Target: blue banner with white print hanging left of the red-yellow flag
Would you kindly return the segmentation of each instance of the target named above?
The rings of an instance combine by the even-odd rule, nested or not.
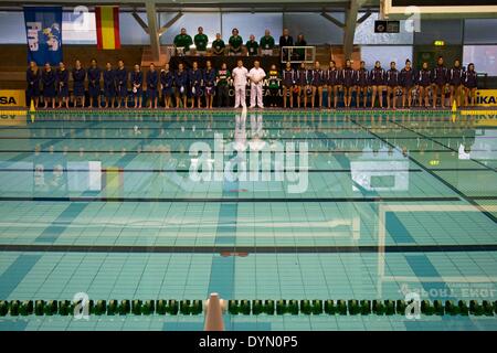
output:
[[[56,65],[62,61],[62,7],[24,7],[28,62]]]

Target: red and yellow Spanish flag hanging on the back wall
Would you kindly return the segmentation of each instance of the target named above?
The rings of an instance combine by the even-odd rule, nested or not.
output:
[[[97,47],[103,50],[120,49],[119,8],[95,7],[97,28]]]

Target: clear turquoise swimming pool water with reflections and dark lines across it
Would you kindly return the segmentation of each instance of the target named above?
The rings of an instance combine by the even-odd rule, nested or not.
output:
[[[15,115],[0,122],[0,300],[494,302],[496,168],[487,116]],[[226,330],[497,329],[495,315],[224,320]],[[0,330],[202,329],[203,315],[0,318]]]

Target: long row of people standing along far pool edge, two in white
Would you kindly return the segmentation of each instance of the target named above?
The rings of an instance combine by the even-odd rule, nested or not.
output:
[[[71,71],[62,62],[56,69],[49,63],[40,69],[31,62],[27,71],[27,94],[36,108],[68,108],[71,75],[72,105],[89,108],[157,109],[161,98],[165,108],[175,106],[212,109],[214,96],[218,98],[218,107],[228,107],[230,87],[234,88],[235,107],[245,107],[247,85],[251,108],[263,108],[264,100],[271,107],[281,106],[281,93],[284,108],[295,107],[295,100],[298,108],[309,105],[310,108],[338,108],[339,99],[342,103],[340,106],[350,108],[352,96],[356,98],[357,108],[374,108],[377,103],[380,108],[388,109],[436,108],[438,103],[445,108],[454,101],[459,107],[475,104],[477,73],[473,63],[464,69],[456,60],[453,67],[447,68],[440,56],[436,66],[432,68],[424,62],[421,69],[415,69],[409,60],[402,69],[399,71],[395,66],[395,62],[391,62],[390,68],[384,69],[377,61],[374,67],[368,71],[366,63],[361,61],[360,68],[355,69],[352,62],[347,60],[341,68],[337,67],[335,61],[331,61],[326,69],[320,67],[319,62],[315,62],[310,68],[305,63],[294,68],[287,62],[282,71],[272,65],[266,73],[257,60],[250,71],[243,66],[242,60],[239,60],[236,67],[231,71],[224,62],[220,67],[213,67],[208,60],[202,68],[198,62],[193,62],[191,68],[180,62],[177,69],[171,69],[169,64],[161,69],[150,64],[146,73],[141,71],[140,65],[135,65],[128,73],[123,61],[118,61],[117,68],[106,63],[105,68],[101,69],[96,60],[92,60],[89,67],[85,69],[81,61],[76,60]],[[263,93],[264,87],[267,88],[266,94]],[[324,90],[327,92],[326,106]]]

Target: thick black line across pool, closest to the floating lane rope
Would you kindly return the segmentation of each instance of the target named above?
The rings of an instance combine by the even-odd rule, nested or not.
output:
[[[45,245],[4,244],[1,252],[24,253],[184,253],[184,254],[378,254],[378,253],[482,253],[497,252],[497,244],[440,244],[440,245],[355,245],[355,246],[148,246],[148,245]]]

